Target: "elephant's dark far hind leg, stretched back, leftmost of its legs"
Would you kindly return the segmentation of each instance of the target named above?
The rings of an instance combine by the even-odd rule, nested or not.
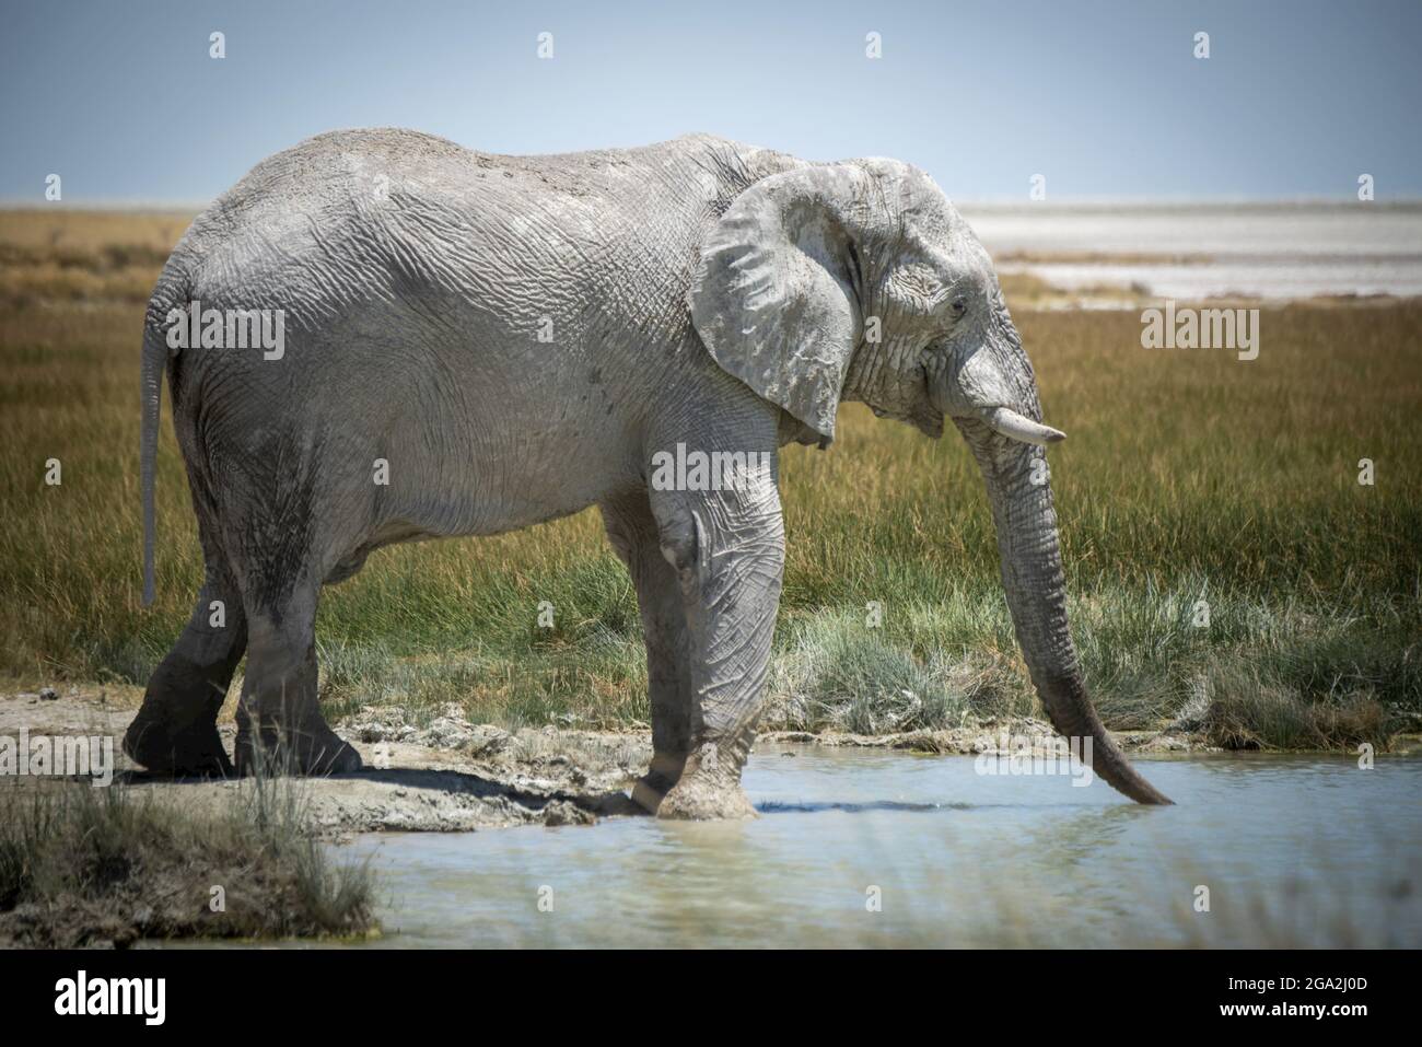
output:
[[[205,542],[208,578],[178,643],[158,666],[124,751],[154,774],[229,775],[218,711],[247,646],[242,597],[219,551]]]

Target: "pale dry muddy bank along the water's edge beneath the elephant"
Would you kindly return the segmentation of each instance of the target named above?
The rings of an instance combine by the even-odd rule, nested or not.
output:
[[[152,792],[156,802],[173,802],[185,809],[202,805],[216,809],[240,790],[236,781],[155,780],[132,765],[122,755],[119,741],[137,707],[134,691],[70,689],[51,697],[3,694],[0,735],[17,737],[24,728],[31,737],[111,737],[117,782]],[[600,818],[641,814],[627,798],[627,790],[651,758],[647,730],[505,730],[469,723],[458,706],[448,706],[432,720],[411,723],[405,711],[392,704],[367,706],[334,728],[360,751],[365,768],[353,775],[300,780],[304,822],[316,835],[592,825]],[[230,753],[235,726],[222,723],[219,731]],[[882,735],[768,731],[757,741],[757,753],[835,745],[978,754],[1003,751],[1004,733],[1027,735],[1034,750],[1057,744],[1045,721],[1012,718]],[[1219,751],[1185,726],[1113,737],[1130,753]],[[1415,738],[1399,741],[1404,751],[1416,747]],[[0,788],[6,784],[0,780]]]

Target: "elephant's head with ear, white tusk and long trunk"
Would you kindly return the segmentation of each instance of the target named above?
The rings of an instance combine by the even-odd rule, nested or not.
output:
[[[799,166],[744,189],[708,232],[691,319],[711,356],[826,444],[840,400],[930,437],[944,417],[987,481],[1003,583],[1052,724],[1092,740],[1092,767],[1169,802],[1121,754],[1082,684],[1066,623],[1042,424],[993,263],[933,181],[884,159]]]

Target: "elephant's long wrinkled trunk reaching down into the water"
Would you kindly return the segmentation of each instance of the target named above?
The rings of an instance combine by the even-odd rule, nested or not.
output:
[[[1066,625],[1066,583],[1052,491],[1045,472],[1034,469],[1042,452],[1005,444],[978,422],[960,422],[960,428],[987,481],[1007,606],[1052,727],[1068,740],[1081,740],[1084,758],[1085,740],[1091,738],[1092,771],[1119,792],[1142,804],[1169,804],[1116,748],[1086,697]]]

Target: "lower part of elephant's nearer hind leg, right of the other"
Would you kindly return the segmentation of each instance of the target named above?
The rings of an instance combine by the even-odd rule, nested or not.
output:
[[[360,754],[336,737],[316,696],[316,603],[299,582],[280,599],[247,593],[247,671],[237,706],[237,771],[346,774]],[[270,593],[259,586],[259,593]]]

